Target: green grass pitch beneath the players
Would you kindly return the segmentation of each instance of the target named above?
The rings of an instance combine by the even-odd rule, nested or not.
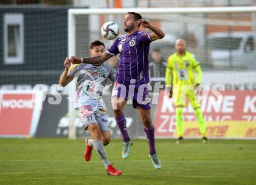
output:
[[[162,169],[153,168],[145,139],[122,159],[122,141],[106,146],[121,176],[106,175],[95,151],[84,161],[83,140],[0,139],[0,184],[256,184],[255,140],[156,140]]]

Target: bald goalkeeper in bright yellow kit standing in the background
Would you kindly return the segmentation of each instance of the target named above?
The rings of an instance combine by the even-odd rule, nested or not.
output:
[[[169,56],[166,68],[166,87],[170,88],[169,97],[174,97],[176,112],[176,128],[180,143],[183,139],[183,108],[186,106],[186,97],[194,108],[202,136],[202,142],[207,143],[205,136],[204,115],[200,108],[199,85],[201,84],[202,71],[200,64],[195,60],[194,55],[186,51],[186,42],[177,39],[175,43],[176,53]],[[195,78],[196,73],[196,78]]]

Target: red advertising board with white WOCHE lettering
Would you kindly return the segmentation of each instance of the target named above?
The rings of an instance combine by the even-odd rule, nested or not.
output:
[[[33,135],[34,126],[37,126],[38,113],[35,113],[35,104],[38,100],[40,100],[38,96],[34,96],[31,92],[1,92],[0,136],[29,137]]]

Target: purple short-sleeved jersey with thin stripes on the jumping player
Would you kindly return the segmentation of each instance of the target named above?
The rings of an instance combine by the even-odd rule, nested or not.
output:
[[[141,85],[150,81],[148,75],[150,42],[152,42],[150,33],[139,30],[115,40],[107,52],[111,55],[119,53],[117,83],[129,85],[131,82],[131,84]]]

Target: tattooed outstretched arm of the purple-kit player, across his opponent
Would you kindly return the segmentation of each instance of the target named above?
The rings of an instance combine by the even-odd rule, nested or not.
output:
[[[112,56],[113,55],[107,52],[104,52],[102,53],[102,55],[88,57],[88,58],[80,58],[80,57],[72,56],[70,57],[70,60],[73,64],[80,64],[80,63],[99,64],[99,63],[104,63],[104,61],[108,60]]]

